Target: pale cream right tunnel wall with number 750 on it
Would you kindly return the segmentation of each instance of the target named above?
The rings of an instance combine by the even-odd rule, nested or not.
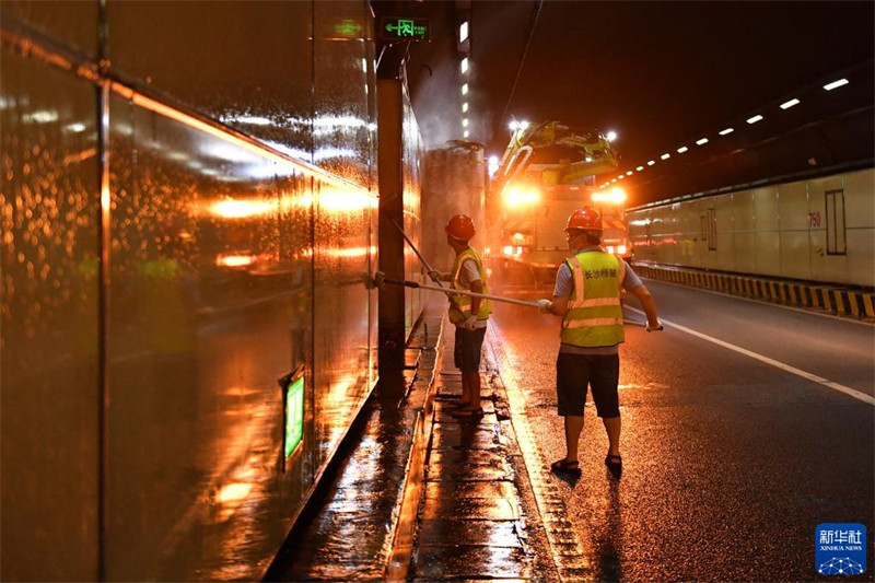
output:
[[[637,261],[873,287],[873,193],[875,171],[870,168],[650,205],[627,211],[626,218]],[[835,219],[839,212],[830,220],[829,196],[842,200],[840,220]],[[684,256],[684,244],[666,235],[668,215],[701,221],[709,209],[716,218],[716,249]],[[707,241],[695,245],[707,249]]]

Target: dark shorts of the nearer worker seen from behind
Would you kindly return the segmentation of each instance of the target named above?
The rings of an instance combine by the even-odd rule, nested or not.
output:
[[[620,417],[617,384],[620,380],[619,354],[570,354],[560,352],[556,361],[556,394],[559,415],[583,417],[586,387],[593,389],[598,417]]]

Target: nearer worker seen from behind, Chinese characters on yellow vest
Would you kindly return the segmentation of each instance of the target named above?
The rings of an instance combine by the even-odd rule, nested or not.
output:
[[[641,301],[649,333],[663,327],[656,314],[656,301],[632,268],[599,246],[602,217],[597,211],[584,208],[572,212],[565,225],[565,238],[572,256],[559,267],[553,299],[538,301],[542,314],[562,317],[556,390],[559,415],[564,418],[567,453],[550,469],[557,474],[581,473],[578,441],[583,430],[588,386],[608,434],[605,465],[619,477],[622,457],[618,347],[625,339],[620,290]]]

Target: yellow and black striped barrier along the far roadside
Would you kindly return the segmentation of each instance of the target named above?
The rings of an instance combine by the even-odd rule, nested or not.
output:
[[[872,290],[849,290],[822,283],[781,281],[651,264],[634,264],[632,268],[635,273],[645,278],[783,305],[822,310],[840,316],[875,319],[875,291]]]

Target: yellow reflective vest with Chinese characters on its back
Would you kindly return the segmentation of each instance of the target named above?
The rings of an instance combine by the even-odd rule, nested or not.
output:
[[[562,318],[562,342],[586,347],[616,346],[625,340],[620,284],[626,263],[607,253],[587,252],[567,259],[574,295]]]

